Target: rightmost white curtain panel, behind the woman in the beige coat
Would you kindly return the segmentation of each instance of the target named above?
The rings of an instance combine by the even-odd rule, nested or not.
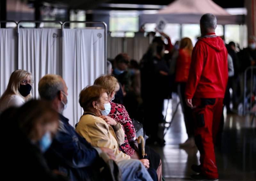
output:
[[[63,115],[75,127],[83,114],[79,93],[105,73],[104,29],[64,29],[62,77],[68,87],[68,105]]]

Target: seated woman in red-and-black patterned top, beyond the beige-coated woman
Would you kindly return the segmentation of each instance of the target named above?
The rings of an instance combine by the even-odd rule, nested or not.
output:
[[[111,75],[101,75],[94,81],[94,85],[100,85],[107,89],[108,101],[110,101],[111,105],[110,113],[108,114],[108,116],[110,116],[111,118],[115,119],[118,123],[120,123],[125,133],[125,140],[124,143],[121,144],[121,148],[127,155],[131,156],[131,158],[139,159],[141,156],[139,156],[138,150],[135,151],[135,149],[133,149],[133,147],[129,143],[135,141],[136,136],[132,120],[130,119],[130,116],[126,111],[124,105],[111,102],[115,99],[115,92],[116,89],[118,89],[118,87],[116,86],[118,85],[117,79]],[[148,146],[145,146],[145,150],[148,155],[150,163],[149,165],[156,170],[158,180],[161,181],[162,162],[160,159],[160,155],[155,150],[149,148]]]

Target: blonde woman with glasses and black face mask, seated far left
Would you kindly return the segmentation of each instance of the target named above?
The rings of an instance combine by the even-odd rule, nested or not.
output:
[[[11,106],[20,107],[32,98],[33,76],[26,70],[12,72],[6,90],[0,98],[0,113]]]

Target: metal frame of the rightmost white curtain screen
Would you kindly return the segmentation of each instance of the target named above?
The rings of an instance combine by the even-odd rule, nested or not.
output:
[[[107,24],[105,22],[102,21],[64,21],[62,24],[62,37],[63,37],[63,30],[65,28],[65,24],[67,23],[88,23],[88,24],[101,24],[104,26],[104,33],[105,33],[105,37],[104,37],[104,44],[105,44],[105,54],[104,54],[104,59],[105,59],[105,73],[107,72]],[[79,29],[86,29],[86,27],[84,28],[79,28]]]

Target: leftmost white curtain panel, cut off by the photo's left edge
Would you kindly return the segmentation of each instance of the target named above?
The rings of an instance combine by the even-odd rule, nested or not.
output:
[[[17,69],[17,30],[0,28],[0,96]]]

